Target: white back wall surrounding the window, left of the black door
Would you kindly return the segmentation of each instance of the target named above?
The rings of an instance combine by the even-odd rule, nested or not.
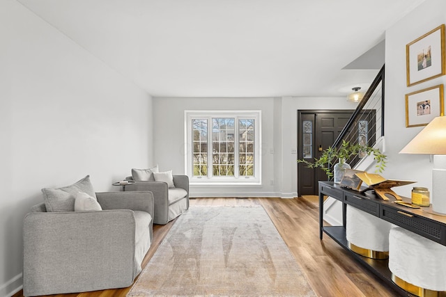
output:
[[[154,98],[154,160],[160,170],[185,173],[185,110],[261,110],[262,185],[191,186],[192,197],[295,197],[298,109],[355,109],[346,98]],[[153,165],[155,165],[155,163]],[[274,185],[270,184],[270,181]]]

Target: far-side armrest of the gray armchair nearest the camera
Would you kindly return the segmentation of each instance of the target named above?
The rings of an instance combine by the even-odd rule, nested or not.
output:
[[[149,191],[96,193],[102,209],[131,209],[146,211],[153,218],[153,194]]]

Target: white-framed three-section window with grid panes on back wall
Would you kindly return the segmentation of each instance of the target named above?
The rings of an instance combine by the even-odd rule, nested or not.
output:
[[[260,111],[186,111],[191,184],[261,184]]]

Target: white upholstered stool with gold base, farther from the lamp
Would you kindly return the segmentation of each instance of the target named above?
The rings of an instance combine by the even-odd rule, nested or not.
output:
[[[387,259],[392,224],[347,204],[346,239],[348,248],[372,259]]]

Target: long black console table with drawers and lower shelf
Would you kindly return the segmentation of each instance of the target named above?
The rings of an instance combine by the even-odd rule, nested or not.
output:
[[[370,259],[362,257],[348,248],[346,240],[346,209],[347,204],[365,211],[373,216],[387,220],[394,225],[403,227],[406,230],[420,234],[446,246],[446,216],[436,216],[429,214],[422,209],[411,209],[392,200],[384,201],[373,193],[360,193],[349,188],[334,184],[333,182],[319,182],[319,238],[322,239],[323,233],[328,234],[340,246],[351,252],[351,255],[358,262],[369,268],[378,277],[390,284],[395,290],[403,296],[413,296],[408,294],[394,282],[392,282],[392,273],[388,268],[388,260]],[[330,196],[342,202],[342,225],[324,226],[323,225],[323,198]],[[409,198],[402,197],[403,201],[410,202]],[[424,209],[426,209],[424,207]]]

